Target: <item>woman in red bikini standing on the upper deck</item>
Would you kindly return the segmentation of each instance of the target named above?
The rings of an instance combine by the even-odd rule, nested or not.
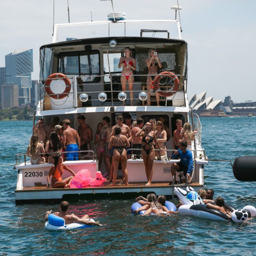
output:
[[[122,91],[126,91],[126,84],[128,82],[128,88],[130,91],[130,100],[131,106],[133,106],[132,101],[134,98],[134,93],[132,92],[134,86],[134,76],[133,71],[136,70],[136,62],[135,59],[130,56],[131,48],[125,47],[124,49],[124,57],[120,58],[118,67],[119,69],[122,67],[122,76],[121,76],[121,84],[122,84]],[[123,106],[125,101],[123,101]]]

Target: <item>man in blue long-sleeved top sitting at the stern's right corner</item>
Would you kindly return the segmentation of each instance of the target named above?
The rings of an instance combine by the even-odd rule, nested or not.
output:
[[[187,149],[186,141],[180,142],[179,149],[173,153],[173,159],[178,158],[180,158],[180,162],[171,165],[172,176],[176,176],[176,171],[183,171],[183,175],[190,178],[193,170],[193,155],[191,151]],[[176,180],[175,183],[177,183]]]

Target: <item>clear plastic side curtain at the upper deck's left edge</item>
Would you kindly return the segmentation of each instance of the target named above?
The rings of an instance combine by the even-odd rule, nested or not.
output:
[[[52,56],[53,51],[51,48],[45,47],[40,50],[40,79],[46,79],[50,76]]]

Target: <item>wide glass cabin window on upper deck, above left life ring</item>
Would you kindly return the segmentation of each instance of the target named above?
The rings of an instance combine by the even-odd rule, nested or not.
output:
[[[62,52],[58,58],[58,72],[66,75],[100,75],[100,57],[98,51]],[[100,81],[100,77],[98,77]],[[83,82],[99,82],[92,77],[83,78]]]

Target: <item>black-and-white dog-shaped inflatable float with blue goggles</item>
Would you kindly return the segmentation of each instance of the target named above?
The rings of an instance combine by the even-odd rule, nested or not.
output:
[[[183,203],[178,209],[180,215],[192,215],[200,219],[210,219],[213,221],[230,220],[230,218],[221,211],[207,208],[202,198],[192,187],[188,186],[186,191],[179,187],[174,187],[174,192]],[[226,207],[232,212],[231,219],[234,222],[244,222],[249,217],[256,216],[254,206],[245,206],[243,209],[236,209],[234,206],[226,204]]]

